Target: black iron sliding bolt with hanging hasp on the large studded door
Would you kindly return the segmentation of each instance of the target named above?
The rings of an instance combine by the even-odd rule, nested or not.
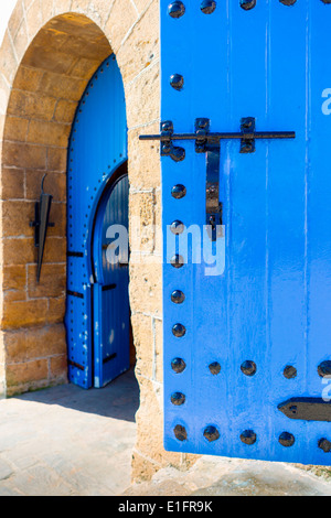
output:
[[[231,133],[210,132],[211,121],[206,118],[195,119],[194,133],[174,133],[171,120],[161,122],[160,134],[141,134],[140,140],[159,140],[161,157],[170,157],[174,162],[185,158],[185,150],[173,144],[173,141],[194,140],[195,152],[206,153],[206,224],[212,241],[222,236],[222,204],[220,203],[220,162],[221,141],[241,140],[241,153],[254,153],[255,141],[260,139],[295,139],[295,131],[256,131],[254,117],[241,121],[241,131]]]

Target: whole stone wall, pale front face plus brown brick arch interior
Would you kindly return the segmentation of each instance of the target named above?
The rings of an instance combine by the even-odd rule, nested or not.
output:
[[[193,457],[162,446],[160,161],[140,132],[159,129],[158,0],[19,0],[0,50],[1,344],[0,389],[12,395],[66,380],[63,325],[66,276],[67,139],[77,102],[115,52],[128,118],[130,303],[140,385],[134,478]],[[34,203],[54,194],[40,284],[35,282]],[[132,233],[135,231],[135,235]],[[137,237],[138,236],[138,237]],[[139,260],[138,260],[139,259]],[[189,458],[189,460],[188,460]]]

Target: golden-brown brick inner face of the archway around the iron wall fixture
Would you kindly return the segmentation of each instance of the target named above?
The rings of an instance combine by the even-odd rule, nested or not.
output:
[[[87,83],[111,47],[82,14],[47,22],[15,74],[2,145],[3,313],[7,393],[63,382],[66,281],[66,154]],[[35,280],[34,202],[42,176],[54,195],[41,283]]]

